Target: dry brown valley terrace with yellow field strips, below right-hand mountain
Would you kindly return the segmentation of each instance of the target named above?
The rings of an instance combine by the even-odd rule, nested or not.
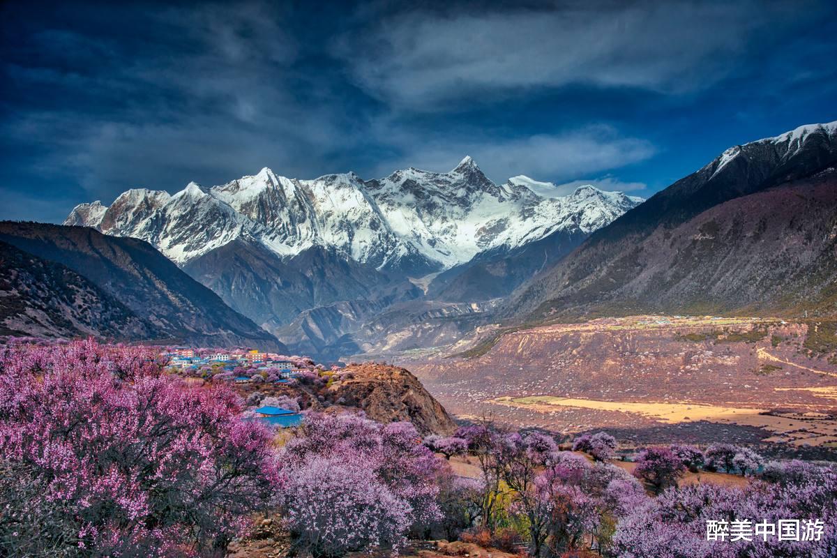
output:
[[[634,316],[502,335],[485,354],[402,362],[460,418],[637,443],[837,446],[837,337],[767,318]],[[812,350],[812,338],[818,350]]]

